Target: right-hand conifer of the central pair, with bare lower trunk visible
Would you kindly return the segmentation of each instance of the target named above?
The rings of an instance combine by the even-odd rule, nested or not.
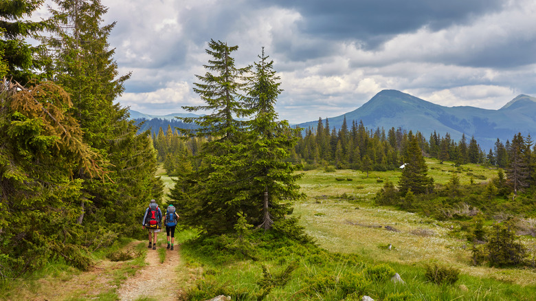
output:
[[[285,161],[296,144],[295,132],[299,130],[291,129],[286,120],[278,121],[274,106],[282,91],[280,78],[273,70],[273,60],[268,61],[264,47],[258,58],[247,89],[247,109],[254,112],[254,118],[248,124],[244,153],[247,168],[242,176],[249,181],[243,181],[241,198],[247,202],[245,208],[253,209],[247,213],[250,218],[256,218],[254,224],[268,230],[274,220],[287,214],[292,201],[303,197],[295,183],[302,175],[294,174],[300,166]],[[311,144],[314,158],[315,140],[311,140]],[[256,214],[260,211],[257,204],[263,205],[262,216]]]

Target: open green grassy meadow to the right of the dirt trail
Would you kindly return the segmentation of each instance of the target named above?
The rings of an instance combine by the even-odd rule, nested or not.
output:
[[[427,164],[429,175],[441,184],[453,174],[462,184],[486,182],[497,175],[497,170],[473,164],[457,168],[434,159],[427,159]],[[266,243],[271,238],[261,235],[254,245],[266,247],[259,251],[265,254],[260,256],[263,259],[247,260],[203,254],[202,247],[186,243],[181,252],[188,269],[195,271],[190,300],[204,300],[211,293],[228,294],[233,300],[361,300],[362,295],[375,300],[535,300],[535,270],[474,267],[470,245],[457,221],[436,221],[374,205],[376,192],[385,181],[396,185],[400,170],[369,172],[368,177],[357,170],[303,173],[299,184],[306,198],[295,203],[290,216],[300,218],[320,249]],[[535,245],[530,236],[522,239]],[[271,271],[270,278],[277,278],[291,263],[297,267],[289,281],[263,295],[266,288],[260,284],[267,276],[263,268]],[[453,285],[429,282],[425,268],[434,263],[458,269],[459,279]],[[371,278],[371,271],[385,266],[400,274],[405,284]],[[354,293],[343,293],[350,278]]]

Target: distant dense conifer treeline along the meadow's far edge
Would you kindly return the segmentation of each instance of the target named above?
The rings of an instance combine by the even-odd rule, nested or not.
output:
[[[197,154],[204,139],[185,142],[177,130],[181,126],[168,123],[165,125],[165,132],[159,127],[158,133],[153,134],[153,142],[159,153],[159,161],[164,162],[168,158],[166,166],[169,168],[166,167],[166,170],[176,174],[179,169],[171,164],[171,161],[176,160],[169,158],[184,158]],[[192,126],[183,129],[192,129]],[[401,128],[392,127],[387,132],[383,128],[368,129],[363,122],[356,120],[352,120],[351,125],[347,126],[346,118],[341,129],[331,129],[329,120],[320,118],[315,129],[301,129],[298,132],[298,143],[290,150],[287,160],[302,163],[305,169],[335,166],[338,169],[364,171],[394,170],[405,163],[403,156],[407,152],[409,135],[410,133]],[[434,132],[428,140],[418,131],[414,135],[423,155],[441,162],[453,161],[456,166],[473,163],[506,168],[509,161],[511,142],[508,140],[506,144],[497,140],[495,148],[486,154],[474,137],[468,142],[465,135],[462,135],[462,139],[456,142],[449,133],[441,137]],[[530,140],[530,137],[528,139]],[[191,163],[192,166],[196,165],[194,161]]]

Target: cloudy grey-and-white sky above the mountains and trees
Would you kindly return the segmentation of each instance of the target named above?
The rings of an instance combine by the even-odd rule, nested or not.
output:
[[[210,39],[238,45],[237,67],[274,61],[292,123],[353,111],[383,89],[447,107],[499,109],[536,96],[533,0],[101,0],[123,106],[153,115],[202,104]],[[199,112],[201,113],[201,112]]]

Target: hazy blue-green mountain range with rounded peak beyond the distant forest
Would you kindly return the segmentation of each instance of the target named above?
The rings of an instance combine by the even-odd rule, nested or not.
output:
[[[493,148],[499,138],[511,140],[517,133],[534,134],[536,131],[536,98],[520,95],[498,110],[476,107],[443,107],[397,90],[383,90],[358,109],[328,118],[331,129],[340,129],[344,117],[348,127],[361,120],[368,129],[382,128],[419,131],[429,137],[449,133],[455,141],[465,133],[467,140],[474,136],[484,151]],[[325,120],[324,120],[325,122]],[[299,124],[315,129],[318,121]],[[532,132],[532,133],[531,133]]]

